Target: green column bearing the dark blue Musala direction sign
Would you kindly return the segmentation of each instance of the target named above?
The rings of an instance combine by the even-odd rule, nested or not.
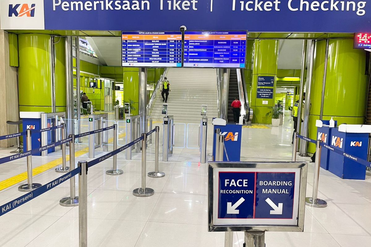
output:
[[[276,75],[278,63],[278,40],[255,40],[253,53],[253,73],[251,81],[250,104],[254,111],[253,123],[272,123],[272,117],[267,117],[268,107],[275,105]],[[247,50],[247,49],[246,49]],[[246,52],[247,53],[247,52]],[[258,76],[274,76],[273,99],[257,99],[257,78]],[[268,101],[268,104],[263,104]]]

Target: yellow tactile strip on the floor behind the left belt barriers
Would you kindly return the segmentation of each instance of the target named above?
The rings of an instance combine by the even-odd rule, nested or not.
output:
[[[118,137],[122,138],[122,137],[125,137],[125,136],[126,136],[126,133],[120,134]],[[114,140],[113,137],[109,138],[108,143],[111,143],[113,140]],[[88,147],[84,148],[82,150],[79,150],[79,151],[75,151],[75,157],[80,157],[83,154],[86,154],[88,152],[89,152]],[[66,160],[69,161],[69,155],[66,156]],[[43,173],[44,171],[47,171],[47,170],[49,170],[53,167],[59,166],[60,164],[62,164],[62,157],[57,158],[56,160],[50,161],[50,162],[48,162],[46,164],[43,164],[41,166],[38,166],[36,168],[33,168],[32,169],[32,176]],[[23,180],[26,180],[26,179],[27,179],[27,171],[24,172],[24,173],[18,174],[16,176],[13,176],[11,178],[8,178],[6,180],[1,181],[0,182],[0,190],[4,190],[6,188],[9,188],[10,186],[13,186],[14,184],[22,182]]]

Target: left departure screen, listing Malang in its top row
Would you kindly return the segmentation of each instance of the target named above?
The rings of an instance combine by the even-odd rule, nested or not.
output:
[[[122,66],[181,67],[181,32],[122,32]]]

